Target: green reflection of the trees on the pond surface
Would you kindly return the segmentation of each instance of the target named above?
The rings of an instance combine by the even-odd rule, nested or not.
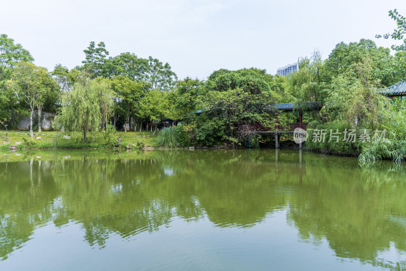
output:
[[[35,158],[31,158],[35,157]],[[80,223],[103,248],[175,219],[250,228],[286,210],[300,242],[327,240],[337,257],[406,268],[406,170],[392,163],[286,150],[27,155],[0,163],[0,258],[51,222]]]

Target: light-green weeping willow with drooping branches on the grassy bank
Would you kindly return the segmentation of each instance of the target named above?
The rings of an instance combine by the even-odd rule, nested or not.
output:
[[[62,95],[62,109],[55,124],[65,131],[82,131],[83,142],[86,142],[86,133],[97,131],[103,119],[111,116],[112,109],[113,93],[108,85],[85,78],[79,80],[71,92]]]

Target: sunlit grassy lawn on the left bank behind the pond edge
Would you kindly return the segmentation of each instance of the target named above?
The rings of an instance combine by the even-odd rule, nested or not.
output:
[[[1,136],[5,136],[5,131],[0,131]],[[11,144],[4,144],[6,141],[0,137],[0,150],[9,150],[10,145],[16,145],[16,142],[21,142],[17,145],[17,149],[103,149],[103,148],[116,148],[113,144],[106,144],[106,141],[102,133],[90,133],[87,136],[87,142],[83,142],[82,133],[71,134],[70,139],[65,139],[62,135],[66,135],[60,132],[48,132],[41,133],[35,132],[34,137],[29,136],[28,131],[9,131],[9,139],[7,142]],[[156,136],[151,132],[116,132],[116,137],[121,135],[121,141],[119,142],[119,148],[125,148],[127,144],[131,147],[156,147]],[[41,137],[41,139],[36,139]]]

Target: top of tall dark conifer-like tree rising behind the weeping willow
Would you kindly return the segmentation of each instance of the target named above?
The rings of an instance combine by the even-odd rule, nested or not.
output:
[[[94,41],[91,41],[87,49],[83,50],[83,52],[86,56],[85,60],[82,61],[83,68],[90,74],[91,78],[102,76],[106,56],[109,55],[105,43],[99,42],[96,47]]]

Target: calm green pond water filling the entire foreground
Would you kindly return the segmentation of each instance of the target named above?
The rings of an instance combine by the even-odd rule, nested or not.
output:
[[[403,270],[405,168],[273,149],[0,155],[0,270]]]

